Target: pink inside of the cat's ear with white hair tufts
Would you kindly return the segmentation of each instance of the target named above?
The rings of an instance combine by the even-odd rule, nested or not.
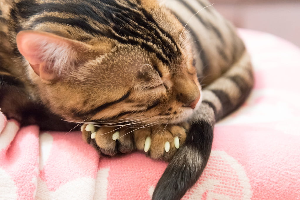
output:
[[[16,36],[16,43],[19,52],[29,62],[35,73],[45,80],[56,78],[57,71],[53,68],[52,60],[59,60],[59,58],[53,58],[53,54],[63,56],[60,52],[54,52],[53,47],[64,49],[70,47],[69,41],[59,36],[36,31],[19,32]],[[50,57],[52,60],[49,59]]]

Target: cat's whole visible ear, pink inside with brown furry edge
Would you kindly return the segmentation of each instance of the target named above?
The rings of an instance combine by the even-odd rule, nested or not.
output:
[[[44,80],[58,79],[93,54],[88,44],[47,32],[21,31],[16,43],[19,52]]]

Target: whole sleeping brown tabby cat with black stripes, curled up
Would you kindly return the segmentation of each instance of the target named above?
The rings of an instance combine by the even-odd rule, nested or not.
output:
[[[83,138],[105,155],[170,161],[153,199],[196,182],[215,122],[253,85],[244,44],[206,0],[0,0],[0,37],[1,111],[41,129],[91,124]]]

